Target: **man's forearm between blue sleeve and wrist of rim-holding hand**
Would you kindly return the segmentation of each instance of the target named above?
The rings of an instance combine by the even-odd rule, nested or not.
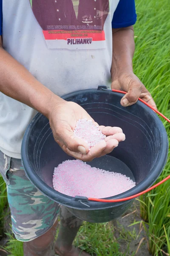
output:
[[[113,57],[111,76],[116,79],[118,72],[133,71],[132,59],[135,51],[133,26],[113,29]]]

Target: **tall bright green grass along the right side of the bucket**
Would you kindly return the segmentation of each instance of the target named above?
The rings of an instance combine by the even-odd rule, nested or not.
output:
[[[152,93],[159,111],[170,117],[170,1],[136,0],[136,9],[134,72]],[[170,141],[170,124],[162,121]],[[169,158],[156,183],[167,175]],[[142,195],[140,200],[150,252],[162,255],[161,249],[170,242],[170,180]]]

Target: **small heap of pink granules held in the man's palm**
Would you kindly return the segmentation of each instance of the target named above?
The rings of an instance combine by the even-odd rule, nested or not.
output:
[[[85,140],[89,149],[101,140],[105,140],[105,135],[99,130],[99,126],[95,126],[92,120],[79,119],[74,129],[76,137]]]

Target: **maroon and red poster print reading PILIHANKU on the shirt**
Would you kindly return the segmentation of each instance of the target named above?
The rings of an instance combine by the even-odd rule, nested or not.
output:
[[[30,0],[49,49],[105,48],[109,0]]]

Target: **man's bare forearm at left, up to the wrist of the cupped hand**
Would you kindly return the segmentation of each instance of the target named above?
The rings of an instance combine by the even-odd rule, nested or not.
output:
[[[48,117],[50,109],[63,101],[42,85],[31,73],[8,54],[0,37],[0,91]]]

